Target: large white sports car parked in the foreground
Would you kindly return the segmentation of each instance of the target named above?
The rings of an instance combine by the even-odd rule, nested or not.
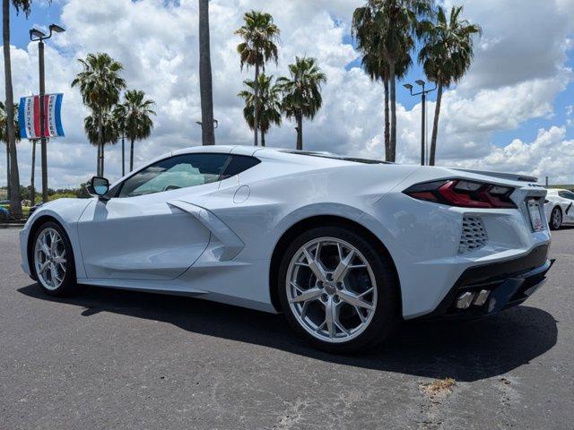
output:
[[[552,265],[533,177],[213,146],[89,191],[22,229],[22,268],[47,294],[89,284],[283,312],[334,352],[403,319],[518,305]]]

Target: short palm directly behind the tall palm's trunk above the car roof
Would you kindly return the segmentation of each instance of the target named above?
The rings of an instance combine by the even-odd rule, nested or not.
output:
[[[273,76],[261,73],[258,76],[257,88],[259,90],[259,131],[261,132],[261,146],[265,146],[265,134],[269,132],[271,125],[281,125],[281,87],[273,82]],[[243,81],[246,90],[239,92],[238,96],[245,101],[243,117],[251,130],[255,129],[255,82]]]

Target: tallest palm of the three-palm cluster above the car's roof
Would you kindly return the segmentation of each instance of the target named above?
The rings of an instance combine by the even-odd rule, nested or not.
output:
[[[265,72],[265,63],[274,60],[277,63],[277,43],[279,42],[279,28],[273,22],[273,16],[270,13],[251,11],[243,15],[245,23],[235,31],[243,42],[239,43],[237,52],[241,70],[247,64],[247,67],[255,67],[255,106],[259,105],[259,68]],[[255,109],[254,127],[255,132],[254,144],[257,146],[257,130],[259,130],[259,109]]]

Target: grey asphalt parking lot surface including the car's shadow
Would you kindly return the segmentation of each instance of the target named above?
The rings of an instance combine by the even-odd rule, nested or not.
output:
[[[0,229],[0,428],[574,428],[574,229],[547,284],[473,323],[317,352],[281,315],[90,288],[55,299]],[[447,379],[446,378],[452,378]]]

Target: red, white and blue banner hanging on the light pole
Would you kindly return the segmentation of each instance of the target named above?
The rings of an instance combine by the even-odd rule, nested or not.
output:
[[[40,134],[39,96],[22,97],[18,110],[18,123],[22,139],[64,136],[62,128],[63,94],[44,95],[44,136]]]

